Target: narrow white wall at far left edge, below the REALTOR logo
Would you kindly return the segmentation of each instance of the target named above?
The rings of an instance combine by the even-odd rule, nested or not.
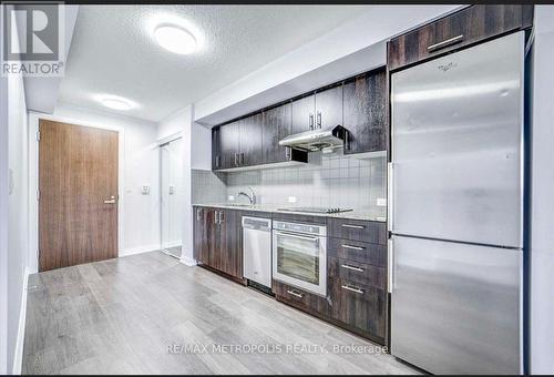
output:
[[[0,86],[0,373],[19,373],[29,261],[27,106],[21,75],[1,78]]]

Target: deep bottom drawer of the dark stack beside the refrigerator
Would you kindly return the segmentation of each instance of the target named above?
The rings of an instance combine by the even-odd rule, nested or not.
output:
[[[341,278],[330,278],[329,291],[331,318],[384,343],[386,291]]]

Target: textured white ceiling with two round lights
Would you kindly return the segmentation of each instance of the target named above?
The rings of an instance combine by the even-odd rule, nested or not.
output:
[[[160,121],[366,11],[365,6],[81,6],[59,101]],[[197,53],[174,54],[151,33],[179,19]],[[94,99],[129,98],[115,111]]]

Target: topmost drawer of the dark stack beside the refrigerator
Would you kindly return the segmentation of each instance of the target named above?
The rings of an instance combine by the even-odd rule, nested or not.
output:
[[[329,218],[327,221],[330,237],[387,244],[387,225],[380,222],[361,220]]]

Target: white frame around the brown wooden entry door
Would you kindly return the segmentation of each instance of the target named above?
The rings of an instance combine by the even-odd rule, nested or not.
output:
[[[70,123],[74,125],[117,132],[117,257],[123,256],[123,217],[125,200],[125,130],[121,126],[82,120],[29,112],[29,268],[31,274],[39,272],[39,147],[37,140],[40,120]]]

